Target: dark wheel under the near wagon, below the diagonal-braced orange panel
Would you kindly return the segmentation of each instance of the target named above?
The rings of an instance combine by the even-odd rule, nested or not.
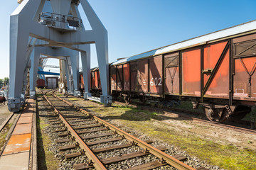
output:
[[[203,107],[208,120],[215,123],[223,123],[227,119],[228,111],[226,108],[208,108]]]

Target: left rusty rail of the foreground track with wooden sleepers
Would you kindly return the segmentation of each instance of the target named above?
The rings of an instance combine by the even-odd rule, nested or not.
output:
[[[82,138],[75,132],[75,130],[71,127],[71,125],[65,120],[65,118],[63,117],[63,115],[61,115],[61,113],[58,111],[58,109],[55,108],[53,103],[51,103],[48,100],[48,97],[46,95],[44,95],[44,94],[43,94],[43,97],[50,104],[50,106],[52,106],[54,108],[55,113],[57,113],[60,116],[60,120],[62,120],[63,123],[65,124],[65,126],[68,128],[68,130],[70,130],[71,135],[73,135],[73,137],[75,137],[75,140],[78,142],[78,144],[81,147],[81,149],[84,149],[85,155],[89,159],[91,159],[91,161],[93,163],[93,166],[95,166],[95,169],[107,170],[105,168],[105,166],[102,164],[102,162],[100,162],[100,160],[95,156],[95,154],[93,154],[92,150],[85,144],[85,142],[82,140]]]

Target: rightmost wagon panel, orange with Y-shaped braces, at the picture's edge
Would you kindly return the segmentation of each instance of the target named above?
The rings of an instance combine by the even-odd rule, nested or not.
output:
[[[256,34],[233,39],[234,99],[256,98]]]

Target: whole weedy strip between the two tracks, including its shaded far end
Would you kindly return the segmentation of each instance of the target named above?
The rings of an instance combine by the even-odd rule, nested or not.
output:
[[[155,139],[186,150],[191,156],[206,160],[208,164],[214,164],[223,169],[232,170],[256,169],[255,150],[241,149],[234,145],[223,145],[220,142],[206,140],[203,137],[176,130],[176,128],[171,128],[168,125],[156,123],[151,118],[164,120],[164,115],[156,112],[117,105],[110,108],[89,107],[89,109],[100,113],[104,117],[118,120],[131,129],[138,130]]]

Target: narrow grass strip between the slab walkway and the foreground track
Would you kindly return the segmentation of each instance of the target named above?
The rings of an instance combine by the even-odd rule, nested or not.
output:
[[[43,130],[48,127],[42,118],[37,120],[37,140],[38,140],[38,169],[58,169],[58,159],[54,157],[48,147],[51,145],[50,138]]]

